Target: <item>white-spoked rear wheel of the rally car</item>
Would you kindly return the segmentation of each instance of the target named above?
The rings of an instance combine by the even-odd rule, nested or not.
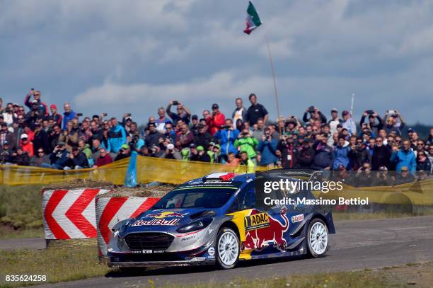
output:
[[[323,257],[329,248],[329,233],[325,222],[313,218],[306,233],[308,254],[313,258]]]

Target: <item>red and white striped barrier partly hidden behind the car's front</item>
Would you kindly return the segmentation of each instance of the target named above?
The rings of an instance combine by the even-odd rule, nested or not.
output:
[[[112,236],[112,227],[117,222],[138,214],[152,207],[159,198],[151,197],[98,197],[96,199],[96,223],[98,227],[98,248],[102,255],[107,255],[107,245]]]

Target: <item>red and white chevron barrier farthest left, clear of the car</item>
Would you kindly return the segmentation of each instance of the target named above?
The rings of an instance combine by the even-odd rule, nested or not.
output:
[[[107,189],[42,192],[45,239],[96,238],[96,195]]]

